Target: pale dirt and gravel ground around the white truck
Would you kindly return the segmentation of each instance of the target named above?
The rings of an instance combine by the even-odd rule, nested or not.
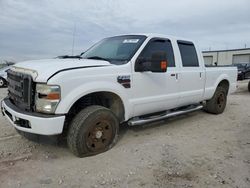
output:
[[[97,156],[76,158],[57,137],[31,139],[0,116],[0,187],[250,187],[247,82],[222,115],[123,127],[118,144]]]

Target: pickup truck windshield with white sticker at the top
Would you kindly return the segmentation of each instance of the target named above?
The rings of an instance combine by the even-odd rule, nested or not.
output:
[[[106,60],[114,64],[127,63],[139,47],[146,36],[124,35],[103,39],[87,50],[82,58]]]

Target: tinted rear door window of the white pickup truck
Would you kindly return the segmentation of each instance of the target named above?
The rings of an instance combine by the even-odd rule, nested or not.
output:
[[[198,67],[199,61],[194,44],[190,42],[178,41],[178,46],[181,53],[183,67]]]

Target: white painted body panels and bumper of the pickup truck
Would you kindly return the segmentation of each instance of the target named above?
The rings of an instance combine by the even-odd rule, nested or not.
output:
[[[103,67],[59,72],[49,79],[47,84],[59,85],[61,88],[61,101],[56,109],[56,114],[67,114],[78,99],[99,91],[112,92],[121,98],[125,109],[125,121],[127,121],[139,115],[210,99],[219,82],[224,79],[230,83],[230,93],[236,90],[237,69],[235,67],[205,68],[203,57],[199,50],[197,50],[199,67],[182,67],[176,41],[185,39],[159,34],[144,35],[148,38],[131,61],[124,65],[111,65],[106,61],[100,60],[52,59],[24,62],[17,64],[16,67],[35,70],[38,73],[35,81],[47,82],[53,74],[62,69],[104,65]],[[147,42],[154,37],[171,40],[176,67],[168,68],[166,73],[135,72],[136,58]],[[172,76],[172,74],[177,74],[178,76]],[[124,88],[119,84],[117,82],[118,76],[130,76],[131,88]],[[38,134],[61,133],[64,125],[64,116],[61,118],[42,119],[18,114],[12,109],[8,110],[17,117],[30,120],[34,124],[32,125],[32,131],[34,127],[35,133]],[[27,129],[22,130],[29,131]]]

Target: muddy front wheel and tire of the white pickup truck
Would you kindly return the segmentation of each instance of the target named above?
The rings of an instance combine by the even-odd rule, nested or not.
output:
[[[80,111],[69,125],[67,143],[78,157],[96,155],[117,142],[119,121],[109,109],[89,106]]]

